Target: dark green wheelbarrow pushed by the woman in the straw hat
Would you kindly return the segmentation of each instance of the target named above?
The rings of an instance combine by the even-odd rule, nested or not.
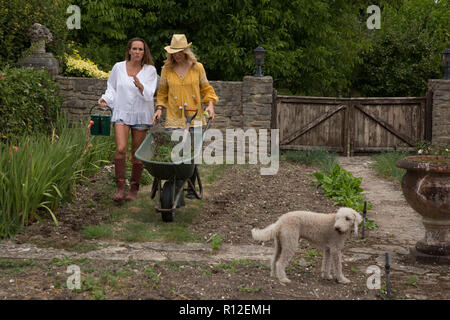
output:
[[[188,116],[186,111],[196,111],[193,116]],[[187,124],[184,130],[182,143],[185,143],[186,136],[189,134],[189,127],[192,119],[197,115],[197,109],[190,109],[184,106],[184,114],[186,116]],[[187,182],[194,190],[195,198],[203,198],[203,186],[198,172],[197,165],[194,163],[195,159],[202,152],[204,132],[209,128],[210,118],[208,118],[205,129],[202,130],[201,137],[194,138],[194,154],[190,158],[185,158],[179,162],[158,162],[151,161],[155,152],[152,148],[152,141],[154,139],[153,133],[147,134],[141,146],[136,150],[136,159],[142,161],[144,168],[154,177],[151,199],[157,196],[155,203],[156,212],[161,213],[164,222],[172,222],[175,218],[176,209],[184,205],[184,184]],[[194,135],[195,135],[194,130]],[[193,181],[191,178],[193,177]],[[163,180],[166,182],[163,184]],[[198,190],[196,189],[198,185]]]

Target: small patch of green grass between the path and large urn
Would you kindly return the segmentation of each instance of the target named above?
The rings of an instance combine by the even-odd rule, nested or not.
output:
[[[395,164],[409,155],[407,152],[384,152],[375,155],[372,157],[372,169],[383,178],[401,182],[406,170],[397,168]]]

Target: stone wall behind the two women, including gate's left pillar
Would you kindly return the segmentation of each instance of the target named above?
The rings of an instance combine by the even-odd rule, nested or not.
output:
[[[105,79],[56,77],[65,97],[62,109],[72,123],[89,118],[89,110],[106,90]],[[243,81],[210,81],[219,102],[212,127],[270,129],[272,77],[244,77]]]

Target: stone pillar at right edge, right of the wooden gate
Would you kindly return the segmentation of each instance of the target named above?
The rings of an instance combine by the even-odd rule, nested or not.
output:
[[[450,143],[450,80],[429,80],[432,98],[432,142]]]

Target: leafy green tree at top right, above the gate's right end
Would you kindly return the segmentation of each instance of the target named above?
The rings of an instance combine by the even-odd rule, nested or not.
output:
[[[405,0],[382,11],[382,28],[368,31],[368,50],[355,73],[364,96],[423,96],[428,79],[441,78],[441,53],[449,43],[448,1]]]

